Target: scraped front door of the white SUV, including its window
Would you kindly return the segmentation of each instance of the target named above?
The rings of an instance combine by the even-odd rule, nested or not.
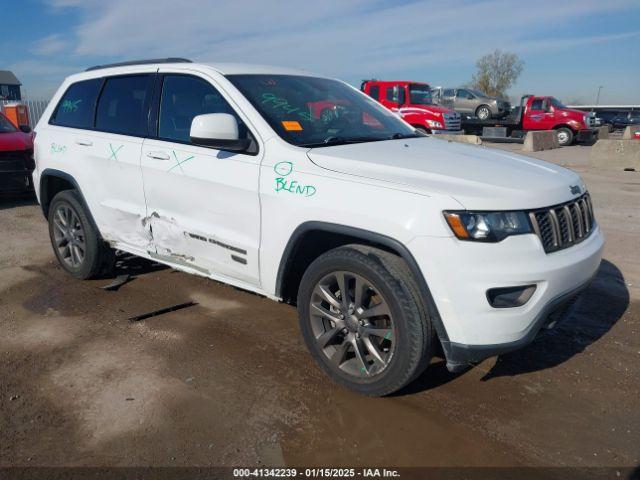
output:
[[[235,112],[204,78],[165,73],[159,81],[157,135],[145,140],[141,161],[153,255],[258,285],[259,157],[191,145],[196,115]]]

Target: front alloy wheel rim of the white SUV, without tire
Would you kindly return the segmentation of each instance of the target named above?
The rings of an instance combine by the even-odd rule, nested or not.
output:
[[[366,379],[390,364],[396,345],[393,317],[366,278],[345,271],[324,276],[311,295],[309,320],[333,370]]]

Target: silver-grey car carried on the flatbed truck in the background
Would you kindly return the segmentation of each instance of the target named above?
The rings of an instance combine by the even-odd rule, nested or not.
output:
[[[511,111],[511,104],[501,98],[491,97],[473,88],[437,88],[434,98],[438,105],[475,116],[480,120],[502,118]]]

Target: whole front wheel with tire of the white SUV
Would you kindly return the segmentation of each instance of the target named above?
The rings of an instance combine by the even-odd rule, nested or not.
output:
[[[433,331],[404,261],[361,245],[336,248],[306,270],[298,292],[305,343],[337,383],[393,393],[429,364]]]

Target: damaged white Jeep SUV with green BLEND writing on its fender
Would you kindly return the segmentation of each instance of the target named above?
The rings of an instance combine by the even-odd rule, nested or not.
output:
[[[349,85],[167,59],[67,78],[34,185],[73,276],[114,251],[297,304],[337,382],[406,385],[530,342],[603,237],[572,171],[425,137]],[[441,347],[441,349],[440,349]]]

